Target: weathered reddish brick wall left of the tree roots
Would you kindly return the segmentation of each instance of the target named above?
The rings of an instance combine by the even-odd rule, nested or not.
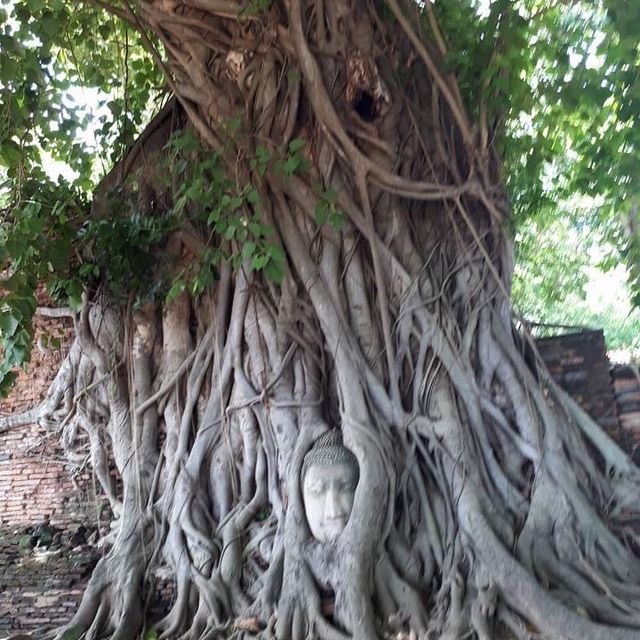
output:
[[[2,416],[37,406],[70,348],[70,319],[38,316],[35,327],[31,363],[0,400]],[[100,555],[98,504],[91,474],[68,463],[56,434],[37,424],[0,433],[0,638],[39,638],[71,618]]]

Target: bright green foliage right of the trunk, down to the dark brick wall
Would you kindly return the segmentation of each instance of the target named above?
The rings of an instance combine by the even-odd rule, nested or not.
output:
[[[640,303],[640,5],[469,0],[435,8],[445,62],[503,159],[518,240],[516,306],[543,322],[610,324],[611,314],[586,306],[588,258],[575,242],[597,239],[601,262],[625,264]],[[635,327],[631,317],[614,324],[614,345]]]

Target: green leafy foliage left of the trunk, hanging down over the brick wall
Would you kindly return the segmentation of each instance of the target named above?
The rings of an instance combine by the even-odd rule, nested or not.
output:
[[[162,87],[139,38],[108,13],[64,0],[2,3],[0,394],[29,357],[37,284],[79,306],[91,275],[80,245],[100,238],[84,226],[96,162],[122,156]],[[50,177],[56,166],[70,182]]]

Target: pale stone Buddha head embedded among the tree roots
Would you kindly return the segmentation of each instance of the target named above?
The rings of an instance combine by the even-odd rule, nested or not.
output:
[[[342,444],[340,432],[322,434],[302,463],[302,498],[313,537],[335,540],[347,526],[360,470],[358,461]]]

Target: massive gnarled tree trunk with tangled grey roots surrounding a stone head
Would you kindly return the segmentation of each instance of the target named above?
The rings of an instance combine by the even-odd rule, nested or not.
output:
[[[436,23],[424,36],[399,0],[384,18],[345,0],[120,6],[256,189],[239,219],[271,226],[286,269],[276,285],[224,266],[198,299],[129,315],[86,301],[43,416],[67,416],[69,447],[88,434],[119,517],[70,626],[136,637],[162,568],[164,638],[640,638],[640,541],[619,518],[640,471],[525,363],[497,161],[438,71]],[[305,171],[251,162],[294,139]],[[328,193],[341,225],[318,219]],[[322,545],[299,472],[332,426],[360,482]]]

